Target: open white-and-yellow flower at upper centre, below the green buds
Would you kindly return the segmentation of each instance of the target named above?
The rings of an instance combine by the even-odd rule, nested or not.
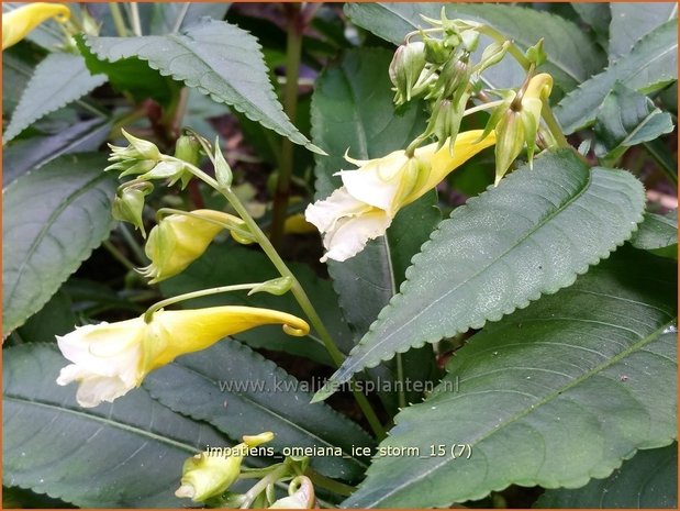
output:
[[[343,187],[327,199],[306,208],[308,222],[323,235],[326,254],[321,258],[346,260],[381,236],[400,208],[435,188],[452,170],[495,143],[493,133],[478,142],[481,130],[460,133],[453,156],[449,144],[430,144],[415,149],[412,158],[395,151],[382,158],[355,160],[357,170],[341,170]]]

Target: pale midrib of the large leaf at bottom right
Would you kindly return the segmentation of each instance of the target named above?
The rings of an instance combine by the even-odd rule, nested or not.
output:
[[[588,378],[594,376],[595,374],[599,374],[601,371],[603,371],[604,369],[607,369],[610,366],[614,365],[615,363],[620,362],[621,359],[632,355],[633,353],[637,353],[639,349],[642,349],[643,347],[645,347],[647,344],[656,341],[660,334],[664,333],[664,330],[666,330],[667,327],[671,326],[672,324],[675,324],[675,322],[677,321],[677,316],[672,318],[671,320],[667,321],[666,323],[664,323],[661,326],[659,326],[658,329],[656,329],[654,332],[649,333],[648,335],[646,335],[645,337],[640,338],[638,342],[632,344],[631,346],[628,346],[626,349],[624,349],[623,352],[621,352],[618,355],[615,355],[609,359],[606,359],[603,364],[600,364],[599,366],[595,366],[594,368],[586,371],[583,375],[581,375],[580,377],[569,381],[569,384],[565,385],[564,387],[554,390],[553,392],[548,393],[546,397],[544,397],[543,399],[540,399],[537,403],[533,404],[532,408],[525,408],[524,410],[520,411],[519,413],[515,413],[514,415],[512,415],[511,418],[509,418],[508,420],[503,421],[502,423],[498,424],[497,427],[492,429],[491,431],[487,432],[484,435],[480,436],[479,438],[477,438],[472,445],[478,445],[481,442],[483,442],[484,440],[489,438],[491,435],[498,433],[499,431],[501,431],[503,427],[513,424],[514,422],[525,418],[526,415],[528,415],[529,413],[536,411],[538,408],[549,403],[550,401],[553,401],[554,399],[558,398],[560,395],[564,395],[565,392],[567,392],[568,390],[572,389],[573,387],[580,385],[581,382],[586,381]],[[445,400],[441,401],[441,402],[446,402]],[[397,420],[395,424],[399,424],[399,420]],[[390,496],[397,493],[398,491],[403,490],[404,488],[408,488],[409,486],[411,486],[412,484],[423,479],[424,477],[427,477],[430,474],[432,474],[435,470],[438,470],[439,468],[444,467],[445,465],[447,465],[449,462],[454,460],[453,458],[445,458],[442,463],[435,465],[434,467],[423,471],[422,474],[412,477],[408,484],[401,485],[401,486],[397,486],[392,489],[392,491],[383,495],[380,497],[379,500],[376,500],[374,502],[371,502],[371,507],[376,506],[377,503],[383,501],[384,499],[389,498]],[[508,482],[510,485],[510,482]]]

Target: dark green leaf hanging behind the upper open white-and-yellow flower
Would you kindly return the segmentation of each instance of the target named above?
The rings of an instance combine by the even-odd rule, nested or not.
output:
[[[327,197],[341,186],[335,173],[354,168],[345,160],[345,151],[358,159],[384,156],[405,148],[425,129],[421,104],[410,104],[395,115],[388,76],[390,60],[391,53],[384,49],[348,52],[339,65],[327,68],[316,81],[312,137],[328,152],[327,157],[316,158],[316,199]],[[436,193],[426,195],[397,215],[386,236],[369,242],[348,260],[328,262],[343,315],[357,341],[398,291],[411,258],[441,220],[436,204]],[[409,354],[406,358],[404,376],[425,379],[431,371],[432,349]],[[377,375],[393,379],[395,373],[394,368],[382,367]],[[397,393],[381,398],[388,408],[397,410]],[[420,398],[406,396],[408,400]]]

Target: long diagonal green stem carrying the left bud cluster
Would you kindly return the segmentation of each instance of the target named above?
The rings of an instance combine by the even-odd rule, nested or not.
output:
[[[210,152],[208,152],[208,155],[211,159],[214,158],[210,154]],[[177,158],[172,156],[166,156],[165,159],[177,160]],[[263,232],[261,229],[259,229],[259,225],[253,219],[253,216],[250,216],[250,213],[248,213],[248,210],[241,203],[241,200],[238,200],[238,197],[236,197],[236,195],[232,191],[231,188],[221,187],[214,178],[205,174],[203,170],[198,168],[196,165],[191,165],[186,162],[183,162],[183,164],[185,164],[185,168],[187,168],[191,174],[193,174],[196,177],[198,177],[199,179],[201,179],[203,182],[211,186],[215,190],[220,191],[226,198],[230,204],[232,204],[232,208],[236,210],[236,213],[246,223],[248,230],[250,231],[253,236],[255,236],[255,240],[257,241],[257,243],[259,243],[259,246],[263,248],[267,257],[269,257],[269,260],[271,260],[271,264],[276,267],[276,269],[279,271],[281,277],[291,278],[293,284],[290,290],[293,293],[293,297],[296,297],[296,300],[300,304],[300,308],[306,314],[308,319],[310,320],[310,323],[312,324],[312,326],[319,334],[319,337],[323,342],[324,347],[328,352],[328,355],[331,355],[331,358],[333,359],[335,365],[339,367],[345,360],[345,355],[343,355],[343,353],[337,348],[337,346],[333,342],[333,337],[331,336],[325,325],[323,324],[323,321],[316,313],[314,306],[312,304],[309,297],[304,292],[304,289],[302,289],[302,286],[298,281],[296,275],[288,268],[283,259],[281,259],[281,256],[279,256],[278,252],[276,251],[276,248],[274,247],[274,245],[271,244],[267,235]],[[214,160],[213,160],[213,165],[214,165]],[[357,390],[353,390],[353,395],[357,401],[357,404],[364,412],[364,415],[366,416],[366,420],[368,421],[371,430],[378,437],[378,440],[384,438],[386,432],[382,427],[382,424],[380,423],[380,420],[376,415],[376,412],[374,411],[370,403],[368,402],[368,399],[366,398],[366,396],[364,396],[361,392]]]

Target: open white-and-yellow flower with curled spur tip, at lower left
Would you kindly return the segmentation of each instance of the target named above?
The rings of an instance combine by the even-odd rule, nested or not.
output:
[[[160,310],[148,323],[140,316],[77,327],[57,336],[59,349],[73,363],[62,369],[57,384],[78,381],[78,403],[96,407],[138,387],[152,370],[179,355],[205,349],[227,335],[265,324],[282,324],[290,335],[309,333],[309,325],[300,318],[252,307]]]

